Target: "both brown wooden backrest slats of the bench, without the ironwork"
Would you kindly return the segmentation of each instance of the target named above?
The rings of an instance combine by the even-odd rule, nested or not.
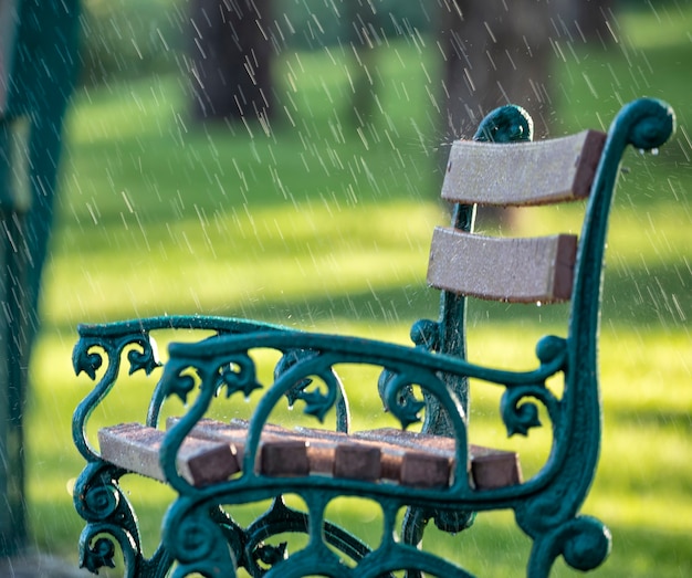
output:
[[[531,206],[584,199],[606,135],[578,135],[513,145],[452,145],[442,198],[480,206]],[[572,294],[576,235],[515,239],[438,228],[428,282],[487,299],[553,303]]]

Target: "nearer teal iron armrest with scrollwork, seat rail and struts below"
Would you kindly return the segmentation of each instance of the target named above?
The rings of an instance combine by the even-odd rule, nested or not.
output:
[[[270,386],[263,386],[256,379],[256,370],[252,361],[251,351],[262,348],[272,348],[285,353],[292,349],[310,350],[310,356],[304,356],[300,360],[291,364],[289,368],[281,371]],[[205,344],[171,344],[170,359],[167,362],[160,388],[166,396],[177,396],[184,401],[195,388],[197,396],[191,401],[188,413],[182,417],[176,427],[171,429],[161,448],[161,466],[167,480],[181,496],[169,511],[169,518],[166,527],[184,527],[182,521],[190,516],[192,509],[201,504],[237,504],[258,502],[280,494],[295,493],[301,495],[308,505],[310,514],[307,523],[316,525],[308,527],[308,535],[312,537],[308,551],[311,554],[297,553],[291,556],[290,561],[281,563],[282,576],[284,572],[293,571],[291,568],[305,568],[305,565],[313,564],[315,559],[321,563],[325,554],[319,551],[321,546],[313,543],[322,543],[324,508],[328,502],[340,495],[357,495],[373,498],[382,506],[385,512],[397,512],[405,505],[417,505],[423,508],[436,508],[438,511],[459,512],[464,508],[487,509],[494,507],[514,507],[522,497],[536,491],[541,482],[539,476],[524,485],[505,487],[495,491],[475,491],[468,482],[465,473],[466,464],[466,438],[463,409],[459,399],[450,392],[444,382],[440,380],[441,372],[453,372],[465,377],[478,377],[483,380],[495,382],[506,388],[506,417],[507,427],[518,429],[528,428],[531,423],[526,414],[531,411],[522,410],[525,402],[520,402],[523,396],[530,396],[534,400],[545,403],[548,414],[559,422],[562,408],[559,401],[553,397],[545,387],[545,381],[551,376],[564,369],[565,347],[564,340],[547,338],[539,350],[539,365],[533,371],[511,372],[496,369],[474,366],[451,356],[432,354],[417,348],[409,348],[373,341],[367,339],[355,339],[334,335],[305,334],[298,332],[264,332],[249,336],[224,336],[206,341]],[[420,386],[434,396],[438,402],[449,413],[450,421],[454,427],[457,439],[457,470],[453,483],[447,488],[415,488],[403,487],[396,484],[376,484],[357,480],[340,480],[324,476],[305,477],[282,477],[273,479],[262,476],[254,471],[254,463],[259,448],[259,439],[262,428],[276,407],[296,383],[304,380],[319,377],[326,386],[326,391],[316,393],[305,400],[304,410],[307,414],[319,420],[334,407],[334,391],[337,389],[329,376],[333,366],[340,364],[375,364],[380,366],[386,379],[380,380],[380,388],[387,401],[389,410],[395,414],[402,425],[417,421],[418,412],[422,409],[420,402],[415,401],[406,395],[407,388],[412,385]],[[228,372],[228,367],[234,367],[234,371]],[[192,370],[198,379],[190,378]],[[176,454],[182,440],[192,427],[201,419],[208,410],[210,403],[220,390],[230,393],[244,393],[247,391],[262,388],[262,397],[259,400],[253,417],[250,420],[249,434],[245,443],[243,458],[243,473],[239,477],[229,480],[211,487],[193,487],[178,475],[175,467]],[[232,399],[229,400],[232,402]],[[544,477],[551,475],[549,467],[544,472]],[[391,516],[392,519],[396,517]],[[394,524],[394,522],[391,522]],[[273,534],[277,534],[273,530]],[[394,535],[394,525],[391,534]],[[329,537],[327,533],[327,538]],[[333,537],[333,536],[332,536]],[[165,538],[165,544],[169,548],[180,543],[180,536],[169,534]],[[327,543],[329,543],[327,540]],[[344,545],[342,545],[344,546]],[[402,559],[409,560],[409,569],[420,568],[431,571],[433,567],[430,555],[420,555],[412,561],[411,551],[419,551],[416,548],[408,550],[405,544],[380,545],[371,554],[367,554],[357,560],[358,572],[367,569],[373,560],[384,564],[387,556],[384,551],[387,548],[399,548]],[[339,548],[340,549],[340,548]],[[342,550],[344,551],[344,550]],[[387,550],[389,551],[389,550]],[[389,551],[389,554],[391,554]],[[333,554],[329,556],[333,557]],[[331,558],[326,558],[331,559]],[[311,561],[313,560],[313,561]],[[200,565],[203,565],[200,560]],[[252,565],[251,559],[245,556],[245,564]],[[294,566],[295,565],[295,566]],[[335,568],[338,565],[335,563]],[[340,566],[338,566],[340,568]],[[444,571],[449,571],[450,564],[443,563]],[[190,569],[201,571],[202,566],[190,566]],[[321,572],[322,574],[322,566]],[[379,568],[379,566],[378,566]],[[402,567],[397,567],[400,569]],[[466,576],[461,569],[454,567],[455,575]],[[339,570],[342,571],[342,570]],[[369,571],[369,570],[368,570]],[[297,572],[297,570],[296,570]],[[434,572],[433,572],[434,574]],[[300,574],[296,574],[296,576]],[[349,574],[337,574],[334,576],[347,576]],[[359,574],[360,575],[360,574]],[[441,576],[453,576],[454,574],[441,574]],[[377,574],[374,574],[377,576]]]

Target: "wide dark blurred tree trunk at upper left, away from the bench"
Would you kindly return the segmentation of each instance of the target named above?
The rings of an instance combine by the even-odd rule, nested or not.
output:
[[[191,0],[192,112],[198,119],[273,113],[272,0]]]

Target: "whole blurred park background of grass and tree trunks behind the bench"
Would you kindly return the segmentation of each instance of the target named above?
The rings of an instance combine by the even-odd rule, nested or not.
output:
[[[437,315],[424,272],[432,228],[448,220],[438,195],[451,139],[507,101],[534,115],[537,137],[555,137],[607,129],[647,95],[668,101],[679,126],[658,155],[623,159],[601,332],[602,455],[584,511],[614,534],[595,576],[689,576],[692,3],[258,0],[259,14],[239,4],[250,11],[231,34],[240,61],[228,30],[212,42],[223,2],[83,2],[27,413],[35,547],[76,560],[70,491],[83,463],[70,420],[90,390],[71,368],[77,323],[199,313],[407,343],[411,323]],[[219,78],[224,59],[231,72]],[[243,76],[252,86],[233,91]],[[578,230],[580,210],[480,225]],[[531,366],[530,336],[564,334],[564,314],[474,305],[470,355]],[[154,385],[127,380],[94,427],[143,419]],[[379,411],[376,383],[357,387],[365,427]],[[545,440],[505,440],[494,393],[472,396],[472,441],[516,446],[537,466]],[[154,548],[171,495],[132,483]],[[368,504],[335,516],[376,536]],[[482,576],[520,575],[528,553],[505,513],[428,539]]]

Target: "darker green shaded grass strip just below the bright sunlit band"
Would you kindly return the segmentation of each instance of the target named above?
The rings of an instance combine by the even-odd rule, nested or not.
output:
[[[679,330],[689,323],[692,312],[690,273],[685,263],[661,264],[628,270],[610,269],[606,275],[604,291],[602,323],[631,328],[658,327],[664,330]],[[181,305],[176,314],[199,313],[193,303]],[[419,285],[385,286],[352,292],[348,295],[329,293],[322,296],[282,295],[281,299],[263,296],[261,299],[223,304],[213,315],[242,316],[279,323],[296,329],[312,329],[315,326],[335,327],[338,330],[344,322],[359,325],[398,325],[410,327],[419,318],[437,319],[439,293]],[[470,304],[470,326],[492,324],[518,324],[545,327],[546,330],[567,332],[568,305],[537,307],[524,304],[491,303],[473,299]],[[157,311],[137,309],[139,317],[158,315]],[[219,313],[226,312],[226,313]],[[229,313],[230,312],[230,313]],[[238,312],[238,313],[234,313]],[[124,314],[123,318],[134,317]],[[83,319],[87,322],[88,319]],[[73,335],[72,325],[44,325],[48,332]],[[408,343],[408,336],[401,336]]]

